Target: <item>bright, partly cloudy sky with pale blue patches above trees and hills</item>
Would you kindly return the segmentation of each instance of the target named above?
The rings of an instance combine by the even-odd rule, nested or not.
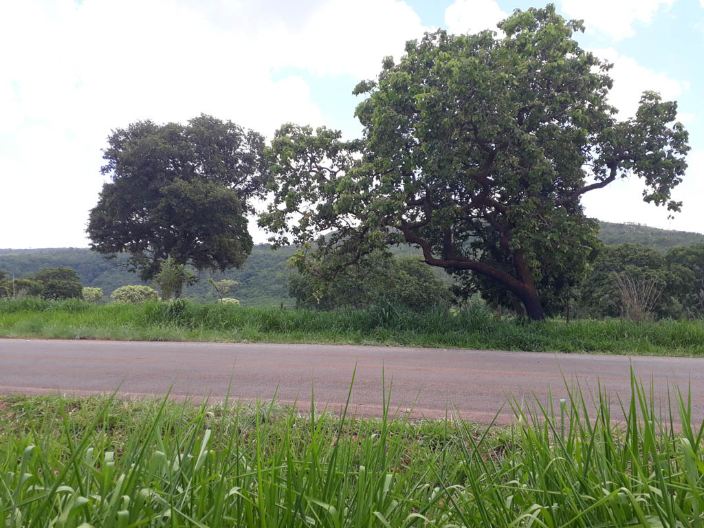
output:
[[[704,232],[704,0],[556,0],[584,49],[614,63],[611,102],[679,102],[690,133],[684,202],[643,203],[639,180],[584,197],[611,222]],[[200,113],[272,137],[283,122],[357,137],[351,94],[384,56],[439,27],[495,29],[522,0],[22,0],[0,3],[0,248],[85,247],[101,150],[130,122]],[[256,242],[267,235],[250,222]]]

